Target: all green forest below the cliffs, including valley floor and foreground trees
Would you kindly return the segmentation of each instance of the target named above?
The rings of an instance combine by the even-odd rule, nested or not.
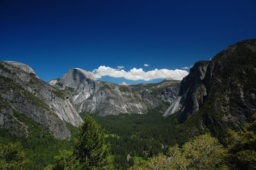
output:
[[[17,117],[23,117],[26,122],[24,115]],[[34,122],[27,123],[34,126],[31,129],[33,136],[15,136],[1,128],[0,167],[129,170],[156,167],[162,170],[256,168],[256,115],[252,116],[252,123],[245,124],[241,129],[227,130],[225,147],[210,133],[195,136],[190,141],[180,140],[176,118],[163,117],[157,110],[145,115],[94,116],[94,119],[99,125],[87,114],[78,128],[67,124],[72,132],[71,141],[55,139],[47,129]]]

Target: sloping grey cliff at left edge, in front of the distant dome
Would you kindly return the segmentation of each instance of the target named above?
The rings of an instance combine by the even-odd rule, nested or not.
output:
[[[22,63],[1,61],[0,66],[1,128],[18,135],[31,135],[29,127],[15,117],[17,111],[40,126],[48,127],[56,138],[69,139],[70,132],[64,121],[74,126],[82,123],[71,94],[51,87]]]

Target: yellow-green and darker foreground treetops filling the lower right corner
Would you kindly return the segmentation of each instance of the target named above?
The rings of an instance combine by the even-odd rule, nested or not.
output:
[[[256,169],[256,115],[253,123],[239,130],[229,129],[227,147],[210,134],[200,135],[185,143],[175,145],[166,154],[149,158],[145,164],[135,164],[129,170],[179,170],[179,169]]]

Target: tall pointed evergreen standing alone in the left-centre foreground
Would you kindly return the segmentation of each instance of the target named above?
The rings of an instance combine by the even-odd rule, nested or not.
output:
[[[76,140],[77,157],[83,169],[112,169],[113,157],[110,155],[110,144],[105,144],[105,129],[101,130],[91,116],[84,117],[79,127]]]

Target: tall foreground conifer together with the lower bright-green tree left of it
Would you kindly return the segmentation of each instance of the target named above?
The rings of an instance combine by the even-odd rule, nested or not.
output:
[[[60,155],[54,157],[55,163],[45,169],[113,169],[110,145],[104,143],[104,129],[101,130],[89,115],[84,117],[84,123],[78,129],[76,151],[60,151]]]

